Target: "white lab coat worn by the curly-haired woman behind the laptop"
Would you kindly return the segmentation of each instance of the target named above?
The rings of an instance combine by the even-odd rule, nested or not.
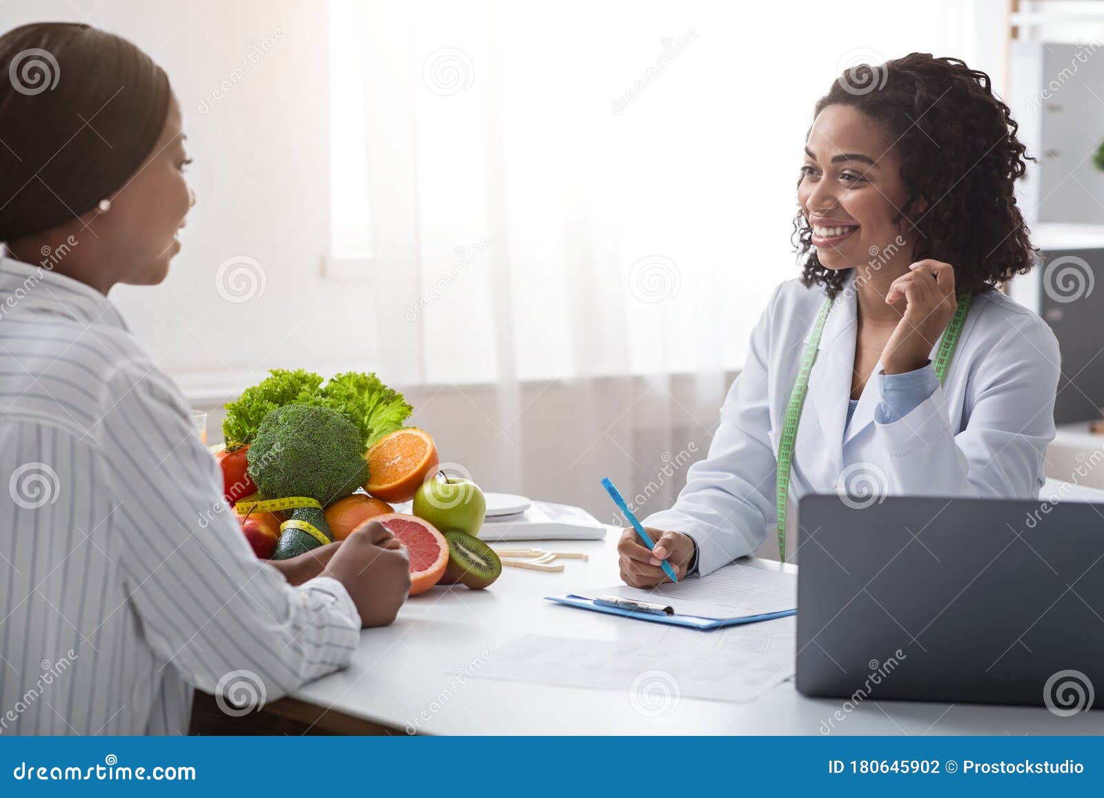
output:
[[[1036,498],[1054,437],[1060,373],[1050,328],[1004,294],[976,296],[943,386],[904,418],[881,424],[874,418],[880,381],[872,376],[845,434],[857,329],[852,280],[837,296],[809,376],[787,551],[796,544],[796,501],[808,492]],[[821,288],[796,279],[778,286],[752,332],[708,456],[688,470],[675,507],[644,521],[692,536],[702,575],[751,554],[774,531],[778,438],[824,300]]]

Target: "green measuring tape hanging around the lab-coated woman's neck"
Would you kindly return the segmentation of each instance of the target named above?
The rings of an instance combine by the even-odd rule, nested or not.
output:
[[[964,294],[958,297],[958,308],[951,317],[947,329],[943,332],[943,340],[940,342],[938,352],[935,355],[935,376],[940,384],[947,373],[951,359],[954,357],[955,347],[958,345],[958,337],[962,334],[963,324],[966,322],[966,313],[969,312],[973,296]],[[794,382],[794,390],[789,394],[789,403],[786,405],[786,417],[783,421],[782,438],[778,440],[778,476],[775,488],[775,507],[778,514],[778,560],[786,562],[786,507],[789,500],[789,472],[794,465],[794,446],[797,443],[797,425],[802,419],[802,408],[805,406],[805,395],[809,390],[809,374],[813,371],[813,363],[817,359],[817,350],[820,348],[820,336],[825,330],[825,322],[831,311],[834,299],[829,297],[820,306],[820,312],[813,324],[813,332],[809,333],[809,342],[805,345],[805,354],[802,355],[802,366],[797,371],[797,380]]]

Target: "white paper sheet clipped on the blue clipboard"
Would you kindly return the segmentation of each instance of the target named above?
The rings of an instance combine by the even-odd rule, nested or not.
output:
[[[637,602],[669,604],[678,615],[699,618],[739,618],[782,613],[797,607],[797,576],[733,563],[709,576],[640,589],[628,585],[574,590],[583,598],[619,596]]]

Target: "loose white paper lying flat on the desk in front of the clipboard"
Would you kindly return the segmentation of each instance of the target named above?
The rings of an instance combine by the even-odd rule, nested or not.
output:
[[[795,628],[793,617],[710,632],[670,627],[639,643],[526,635],[474,675],[747,703],[793,677]]]

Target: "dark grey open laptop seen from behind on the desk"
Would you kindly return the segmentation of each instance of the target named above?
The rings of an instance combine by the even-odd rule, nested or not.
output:
[[[798,545],[805,695],[1104,705],[1104,504],[813,494]]]

